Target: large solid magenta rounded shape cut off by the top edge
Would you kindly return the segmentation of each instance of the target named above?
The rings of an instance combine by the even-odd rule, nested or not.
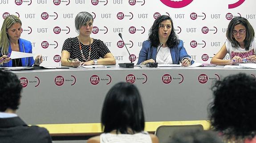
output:
[[[193,0],[160,0],[163,4],[171,8],[183,8]]]

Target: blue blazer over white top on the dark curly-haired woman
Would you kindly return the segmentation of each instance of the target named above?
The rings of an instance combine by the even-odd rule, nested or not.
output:
[[[170,48],[171,51],[171,58],[172,58],[172,63],[173,64],[179,64],[182,62],[181,60],[183,58],[190,58],[191,57],[187,54],[186,49],[183,46],[183,41],[179,40],[179,44],[176,45],[175,47]],[[142,49],[139,52],[139,57],[138,57],[138,63],[140,64],[146,60],[153,59],[155,60],[156,58],[156,52],[157,52],[157,47],[154,47],[151,45],[151,42],[149,40],[146,40],[142,43]],[[191,60],[191,64],[193,64],[194,61]]]

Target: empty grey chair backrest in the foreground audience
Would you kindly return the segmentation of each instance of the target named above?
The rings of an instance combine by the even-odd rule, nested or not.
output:
[[[203,126],[201,124],[195,125],[163,125],[159,126],[155,135],[159,139],[159,143],[168,143],[171,140],[172,134],[177,130],[203,130]]]

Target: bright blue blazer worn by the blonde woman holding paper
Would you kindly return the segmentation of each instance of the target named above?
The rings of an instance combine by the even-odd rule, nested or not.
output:
[[[30,41],[27,41],[25,39],[19,39],[19,46],[20,46],[20,52],[24,53],[32,53],[32,45]],[[9,44],[8,53],[12,52],[11,45]],[[2,55],[2,53],[0,53]],[[21,58],[21,64],[22,66],[33,66],[34,64],[34,58],[28,57],[28,58]],[[3,67],[12,67],[12,60],[7,63],[3,63]]]

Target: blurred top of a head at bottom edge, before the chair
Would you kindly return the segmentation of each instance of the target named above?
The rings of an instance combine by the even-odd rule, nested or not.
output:
[[[178,130],[173,133],[169,143],[223,143],[213,131]]]

